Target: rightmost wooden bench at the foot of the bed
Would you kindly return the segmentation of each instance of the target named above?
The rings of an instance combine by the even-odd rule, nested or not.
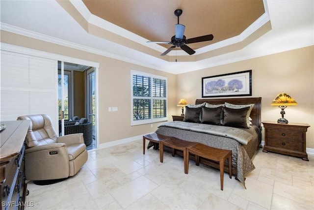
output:
[[[204,157],[210,160],[219,162],[220,170],[220,189],[223,190],[224,185],[224,163],[228,159],[229,164],[229,177],[232,179],[232,151],[222,150],[218,148],[209,147],[200,143],[196,143],[186,149],[186,157],[184,158],[184,168],[186,168],[186,174],[188,173],[189,153],[195,155],[195,163],[198,166],[200,164],[200,157]]]

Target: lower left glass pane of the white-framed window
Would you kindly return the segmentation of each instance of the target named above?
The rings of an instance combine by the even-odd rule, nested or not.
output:
[[[151,119],[150,99],[133,99],[133,120]]]

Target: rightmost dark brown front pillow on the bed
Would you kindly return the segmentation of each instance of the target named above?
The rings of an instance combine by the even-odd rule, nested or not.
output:
[[[246,122],[246,116],[250,110],[250,107],[244,107],[240,109],[223,107],[222,110],[224,113],[224,126],[249,128]]]

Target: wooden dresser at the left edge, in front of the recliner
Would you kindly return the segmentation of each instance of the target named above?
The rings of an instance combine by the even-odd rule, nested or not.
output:
[[[6,126],[0,131],[0,209],[24,209],[27,194],[24,141],[30,120],[3,121],[0,124]]]

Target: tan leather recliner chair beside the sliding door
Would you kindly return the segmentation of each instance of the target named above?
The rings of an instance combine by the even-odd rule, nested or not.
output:
[[[57,137],[48,115],[28,115],[26,134],[26,180],[56,180],[74,176],[87,161],[83,134]]]

